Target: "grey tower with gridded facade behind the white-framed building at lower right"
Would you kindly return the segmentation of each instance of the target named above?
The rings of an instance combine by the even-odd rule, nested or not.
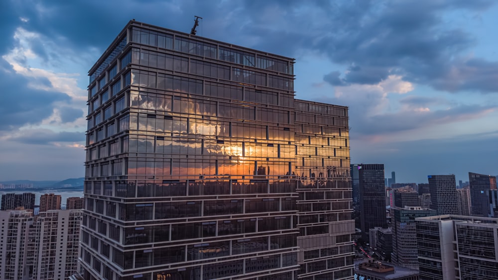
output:
[[[462,207],[458,200],[455,175],[429,175],[431,209],[438,215],[460,215]]]

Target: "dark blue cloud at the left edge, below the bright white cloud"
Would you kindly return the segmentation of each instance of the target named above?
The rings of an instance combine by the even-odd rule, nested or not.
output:
[[[38,124],[52,114],[54,102],[69,101],[65,93],[35,90],[29,83],[49,85],[44,78],[29,79],[15,74],[12,67],[0,59],[0,131],[13,130],[25,124]]]

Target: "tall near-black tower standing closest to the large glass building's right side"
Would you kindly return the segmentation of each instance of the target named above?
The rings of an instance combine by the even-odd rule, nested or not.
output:
[[[361,164],[360,212],[361,230],[367,239],[369,229],[387,227],[385,215],[385,187],[383,164]]]

